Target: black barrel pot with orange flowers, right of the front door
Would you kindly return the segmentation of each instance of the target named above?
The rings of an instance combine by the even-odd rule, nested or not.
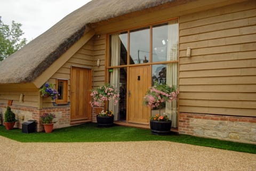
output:
[[[171,133],[172,121],[150,120],[151,133],[154,135],[169,135]]]

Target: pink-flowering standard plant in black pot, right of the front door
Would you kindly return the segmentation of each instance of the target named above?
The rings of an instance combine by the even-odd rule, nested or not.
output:
[[[166,135],[171,131],[172,120],[165,113],[161,115],[161,109],[165,107],[166,102],[176,100],[179,90],[175,86],[154,83],[149,87],[144,96],[144,103],[153,110],[159,110],[159,114],[150,117],[151,133],[155,135]]]

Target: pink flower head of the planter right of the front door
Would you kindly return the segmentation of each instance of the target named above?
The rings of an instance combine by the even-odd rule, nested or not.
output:
[[[160,85],[155,82],[144,96],[144,103],[151,109],[161,109],[165,107],[166,102],[176,100],[178,94],[179,90],[174,86]]]

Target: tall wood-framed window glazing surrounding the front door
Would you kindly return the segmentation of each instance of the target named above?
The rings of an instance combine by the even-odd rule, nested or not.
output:
[[[126,104],[127,85],[133,84],[129,83],[127,76],[133,76],[127,75],[127,70],[134,64],[151,67],[148,78],[151,77],[152,85],[157,82],[178,86],[178,30],[178,20],[172,20],[110,35],[109,82],[118,87],[121,99],[115,107],[109,103],[109,109],[116,113],[115,119],[126,120],[126,105],[129,106]],[[166,102],[162,110],[161,113],[166,113],[172,119],[172,127],[177,127],[177,101]],[[152,110],[151,115],[155,115],[155,112],[159,111]]]

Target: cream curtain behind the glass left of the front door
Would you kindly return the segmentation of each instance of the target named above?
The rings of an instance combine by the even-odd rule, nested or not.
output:
[[[121,40],[119,34],[111,35],[111,66],[119,66],[120,64],[120,47]],[[110,74],[110,84],[114,85],[119,92],[119,68],[114,68]],[[119,116],[119,103],[114,105],[114,101],[110,100],[108,105],[109,110],[112,110],[115,116],[115,120],[118,120]]]

